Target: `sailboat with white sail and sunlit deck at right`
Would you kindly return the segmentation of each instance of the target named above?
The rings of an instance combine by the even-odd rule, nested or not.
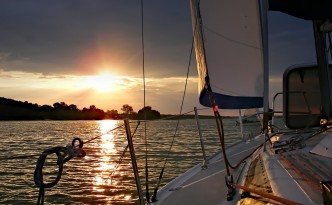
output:
[[[326,41],[332,2],[190,3],[199,101],[211,107],[221,152],[156,189],[148,204],[332,204],[331,51]],[[317,63],[290,65],[283,76],[287,130],[271,124],[268,12],[313,22]],[[252,108],[262,110],[262,132],[226,147],[219,110]]]

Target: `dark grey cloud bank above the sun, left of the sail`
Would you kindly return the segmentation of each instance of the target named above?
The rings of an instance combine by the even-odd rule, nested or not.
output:
[[[0,28],[6,70],[89,73],[82,64],[101,57],[82,58],[102,49],[104,58],[123,65],[122,72],[141,73],[139,1],[3,0]],[[144,35],[152,73],[163,69],[163,74],[176,75],[190,49],[189,2],[145,1]]]

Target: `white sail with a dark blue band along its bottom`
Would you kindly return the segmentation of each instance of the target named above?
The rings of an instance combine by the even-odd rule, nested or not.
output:
[[[191,0],[199,101],[221,109],[263,107],[263,56],[256,0]],[[209,92],[211,88],[212,92]]]

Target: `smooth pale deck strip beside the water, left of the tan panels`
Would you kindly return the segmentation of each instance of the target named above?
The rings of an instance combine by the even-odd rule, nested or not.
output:
[[[228,148],[229,161],[238,162],[262,142],[263,138],[260,138]],[[215,155],[209,160],[207,169],[197,165],[163,187],[158,192],[158,201],[153,204],[222,204],[227,194],[225,175],[222,154]]]

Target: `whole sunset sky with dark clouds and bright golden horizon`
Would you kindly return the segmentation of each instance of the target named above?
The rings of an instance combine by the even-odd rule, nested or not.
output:
[[[138,0],[0,1],[0,97],[137,112],[144,64],[145,105],[177,114],[190,65],[183,112],[202,108],[189,0],[145,0],[143,11],[144,61]],[[272,99],[283,71],[315,56],[310,22],[279,13],[269,20]]]

